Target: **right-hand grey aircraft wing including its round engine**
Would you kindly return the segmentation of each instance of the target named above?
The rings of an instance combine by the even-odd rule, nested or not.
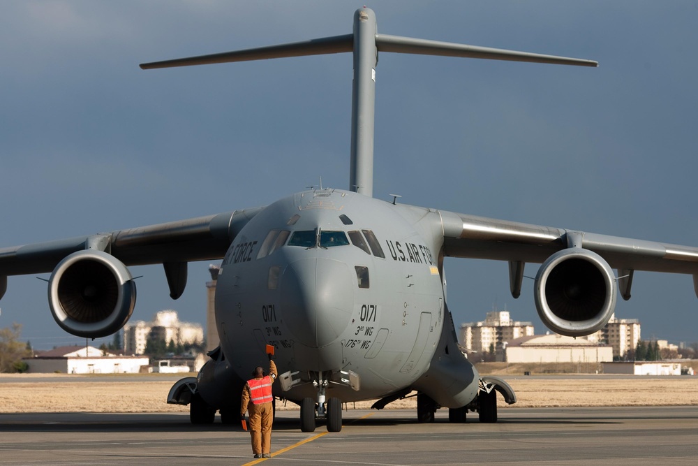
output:
[[[535,276],[535,307],[560,335],[590,335],[603,328],[614,313],[617,292],[630,299],[635,270],[693,275],[698,296],[698,247],[439,214],[444,255],[508,261],[514,298],[521,295],[526,263],[542,263]]]

